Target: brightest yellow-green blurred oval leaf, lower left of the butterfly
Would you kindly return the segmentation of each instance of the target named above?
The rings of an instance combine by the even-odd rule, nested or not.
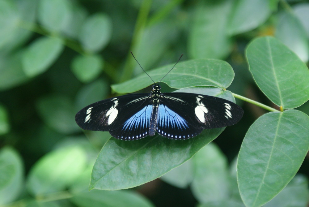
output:
[[[30,170],[27,187],[36,196],[65,190],[86,166],[86,154],[80,147],[66,147],[42,157]]]

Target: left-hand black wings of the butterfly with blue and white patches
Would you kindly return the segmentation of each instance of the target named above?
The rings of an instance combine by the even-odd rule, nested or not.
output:
[[[85,130],[109,131],[117,139],[136,140],[147,136],[151,112],[150,95],[136,93],[86,106],[75,121]]]

